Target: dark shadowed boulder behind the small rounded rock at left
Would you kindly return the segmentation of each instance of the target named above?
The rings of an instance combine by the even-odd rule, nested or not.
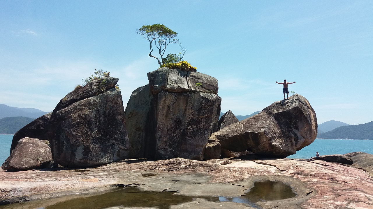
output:
[[[48,126],[51,115],[52,113],[47,113],[46,115],[40,116],[31,123],[25,125],[23,128],[19,129],[19,131],[17,131],[13,136],[10,152],[16,148],[18,141],[25,137],[48,140]]]

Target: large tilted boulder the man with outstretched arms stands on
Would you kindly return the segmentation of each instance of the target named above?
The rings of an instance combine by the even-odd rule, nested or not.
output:
[[[316,135],[315,111],[307,99],[295,94],[213,133],[209,141],[218,141],[223,149],[234,152],[284,158],[311,144]]]

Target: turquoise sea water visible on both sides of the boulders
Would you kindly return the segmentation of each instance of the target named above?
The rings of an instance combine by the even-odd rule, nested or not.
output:
[[[0,165],[9,156],[12,139],[13,135],[0,135]],[[288,158],[308,159],[314,157],[316,152],[320,155],[331,155],[358,151],[373,154],[373,140],[316,139],[312,144]]]

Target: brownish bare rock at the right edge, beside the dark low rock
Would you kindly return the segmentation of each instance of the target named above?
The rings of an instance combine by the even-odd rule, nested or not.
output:
[[[367,173],[373,176],[373,155],[365,152],[351,152],[345,154],[349,157],[353,164],[352,166],[364,169]]]

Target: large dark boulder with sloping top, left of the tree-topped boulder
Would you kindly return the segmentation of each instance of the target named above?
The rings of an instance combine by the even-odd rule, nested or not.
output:
[[[130,146],[117,81],[113,77],[91,81],[57,104],[48,133],[55,163],[90,167],[128,158]]]

